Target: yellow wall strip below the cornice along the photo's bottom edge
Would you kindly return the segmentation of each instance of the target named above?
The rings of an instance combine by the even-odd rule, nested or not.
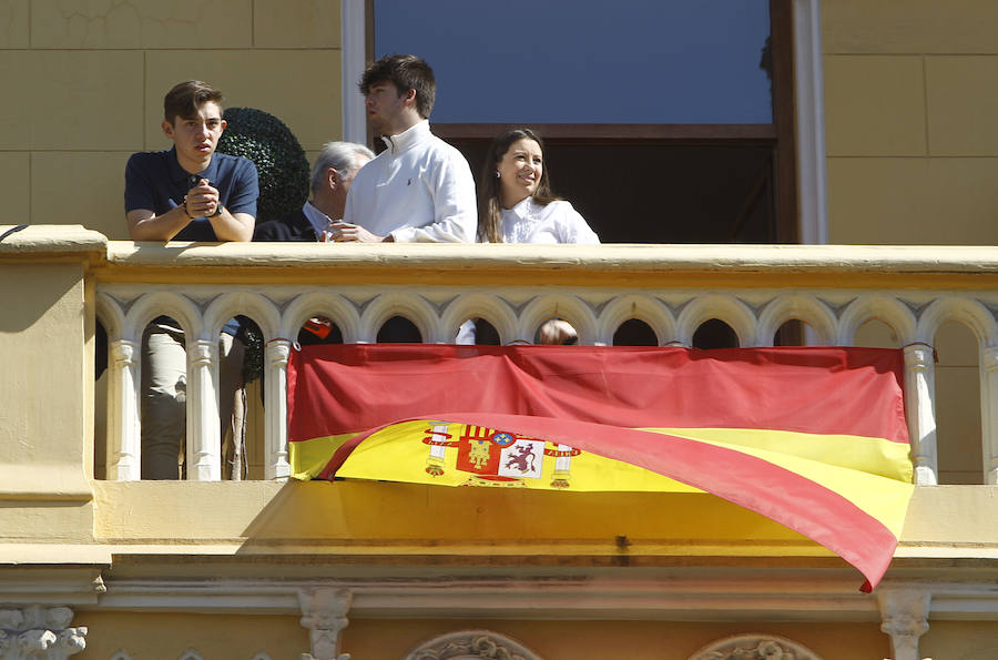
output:
[[[86,626],[80,660],[106,659],[126,651],[136,660],[177,658],[194,649],[204,658],[251,660],[264,651],[275,660],[308,650],[308,632],[293,616],[186,615],[78,611],[74,625]],[[951,637],[960,625],[940,623]],[[987,625],[985,625],[987,628]],[[994,627],[992,627],[994,628]],[[365,660],[398,660],[417,644],[461,629],[486,629],[511,637],[548,660],[686,660],[700,648],[733,634],[785,637],[823,658],[870,660],[889,657],[889,641],[874,622],[773,623],[678,621],[544,621],[489,619],[352,619],[340,650]],[[986,643],[987,630],[960,640],[957,648]],[[947,648],[954,648],[953,646]],[[945,656],[939,656],[945,657]]]

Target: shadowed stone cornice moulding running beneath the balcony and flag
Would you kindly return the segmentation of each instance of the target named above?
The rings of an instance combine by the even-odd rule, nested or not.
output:
[[[413,578],[236,578],[216,570],[201,579],[110,578],[99,607],[115,610],[213,610],[288,613],[303,589],[347,589],[352,616],[546,619],[873,621],[877,596],[917,589],[931,595],[931,618],[998,619],[998,588],[963,580],[886,580],[858,592],[846,571],[723,571],[660,575],[503,575]]]

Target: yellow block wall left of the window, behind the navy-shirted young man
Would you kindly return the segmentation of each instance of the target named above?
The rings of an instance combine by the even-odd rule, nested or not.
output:
[[[0,1],[3,222],[128,238],[125,162],[170,146],[163,95],[182,80],[277,115],[306,151],[338,140],[339,44],[336,0]]]

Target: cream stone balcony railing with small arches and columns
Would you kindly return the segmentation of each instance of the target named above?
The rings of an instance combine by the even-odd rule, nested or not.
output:
[[[633,318],[662,346],[690,346],[713,318],[741,346],[772,346],[791,319],[807,324],[809,343],[849,346],[878,319],[905,352],[919,485],[938,483],[933,341],[944,323],[960,322],[980,348],[984,479],[998,484],[995,248],[111,242],[88,277],[110,343],[109,479],[140,478],[140,342],[164,314],[189,337],[187,478],[221,478],[217,337],[242,314],[265,345],[267,479],[288,476],[286,369],[309,317],[333,321],[347,343],[375,342],[393,316],[411,321],[425,342],[451,343],[464,321],[481,317],[510,343],[532,341],[557,316],[581,344],[610,345]]]

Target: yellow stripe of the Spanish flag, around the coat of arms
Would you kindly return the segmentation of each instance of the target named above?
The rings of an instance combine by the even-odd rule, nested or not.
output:
[[[343,478],[389,480],[441,486],[513,486],[569,491],[659,491],[699,493],[658,473],[582,451],[571,457],[568,474],[556,474],[556,459],[546,456],[537,478],[490,479],[457,467],[457,448],[445,447],[434,459],[424,443],[435,424],[410,420],[383,428],[360,443],[337,470]],[[465,425],[449,424],[458,437]],[[758,429],[646,429],[703,441],[766,460],[838,493],[867,515],[880,520],[895,536],[904,525],[905,504],[910,497],[907,446],[877,438],[819,436],[804,433]],[[293,476],[308,479],[317,475],[329,456],[354,434],[328,436],[291,446]],[[653,436],[650,436],[653,441]],[[546,444],[549,451],[558,447]],[[851,451],[844,450],[849,448]],[[856,457],[855,454],[867,454]],[[844,456],[846,455],[846,456]],[[876,466],[876,473],[860,469]],[[888,476],[890,475],[890,476]]]

